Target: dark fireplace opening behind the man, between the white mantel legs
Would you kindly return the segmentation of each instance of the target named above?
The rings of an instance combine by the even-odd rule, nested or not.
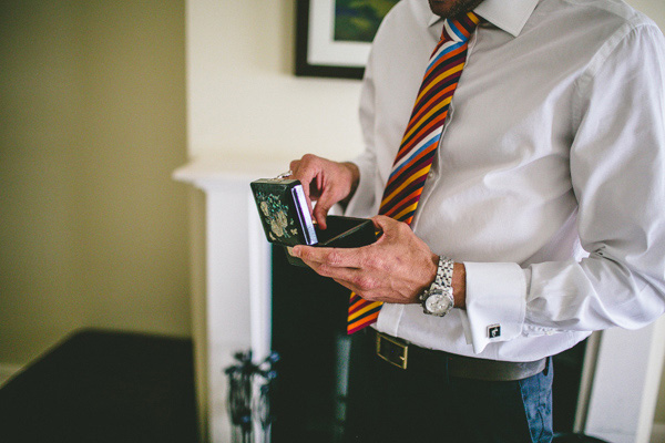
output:
[[[273,247],[272,348],[280,356],[273,443],[341,441],[350,340],[348,289]],[[554,431],[572,432],[586,342],[554,357]]]

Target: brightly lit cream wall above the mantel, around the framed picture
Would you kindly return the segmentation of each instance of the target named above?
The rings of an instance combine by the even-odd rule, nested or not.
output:
[[[665,29],[662,0],[630,0]],[[295,1],[187,1],[191,157],[348,158],[362,143],[358,81],[295,78]],[[280,171],[276,171],[278,173]],[[665,423],[665,374],[656,421]]]

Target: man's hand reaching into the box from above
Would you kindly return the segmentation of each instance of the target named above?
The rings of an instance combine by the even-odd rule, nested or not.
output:
[[[293,178],[299,179],[307,197],[309,209],[317,202],[313,215],[321,229],[326,229],[326,215],[339,202],[348,202],[354,195],[360,173],[352,163],[331,162],[306,154],[290,163]]]

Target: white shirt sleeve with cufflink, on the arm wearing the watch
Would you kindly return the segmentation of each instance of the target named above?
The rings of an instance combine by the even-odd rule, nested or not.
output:
[[[665,311],[665,39],[608,40],[577,81],[570,171],[582,260],[467,262],[474,352],[556,331],[637,329]]]

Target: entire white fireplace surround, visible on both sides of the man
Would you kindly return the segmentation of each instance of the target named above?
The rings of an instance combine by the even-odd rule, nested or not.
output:
[[[265,240],[249,182],[276,176],[286,162],[194,159],[173,174],[205,193],[203,288],[205,337],[195,334],[197,381],[207,440],[228,442],[224,368],[233,353],[252,349],[262,360],[270,347],[270,250]],[[196,265],[195,265],[196,266]],[[194,326],[197,330],[197,326]],[[647,443],[653,425],[665,353],[665,318],[638,331],[612,329],[593,336],[584,362],[577,430],[613,443]],[[201,357],[203,356],[203,357]]]

